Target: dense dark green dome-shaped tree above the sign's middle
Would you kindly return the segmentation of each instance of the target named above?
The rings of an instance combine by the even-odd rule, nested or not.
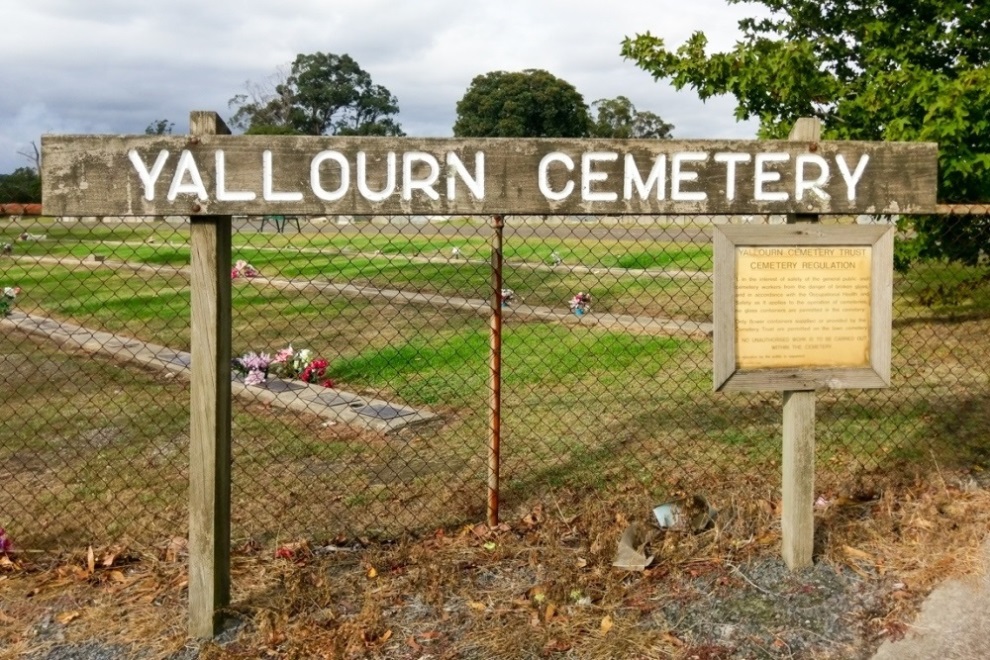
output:
[[[591,120],[569,82],[540,69],[477,76],[457,103],[457,137],[584,137]]]

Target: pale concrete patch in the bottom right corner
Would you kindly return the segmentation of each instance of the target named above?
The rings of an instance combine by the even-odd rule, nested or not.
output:
[[[985,660],[990,658],[990,537],[983,571],[953,579],[928,596],[907,635],[884,642],[873,660]]]

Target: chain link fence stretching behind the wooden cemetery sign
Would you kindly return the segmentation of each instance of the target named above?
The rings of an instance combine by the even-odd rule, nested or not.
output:
[[[499,282],[492,218],[235,218],[235,544],[482,520],[493,423],[503,511],[773,493],[780,394],[712,391],[711,236],[780,220],[506,217]],[[188,219],[12,217],[0,247],[0,526],[41,552],[185,535]],[[987,466],[987,273],[895,276],[891,386],[819,393],[817,489]]]

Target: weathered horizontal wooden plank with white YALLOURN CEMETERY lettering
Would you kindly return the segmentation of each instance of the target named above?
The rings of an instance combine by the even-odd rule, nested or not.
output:
[[[52,215],[922,213],[932,143],[42,138]]]

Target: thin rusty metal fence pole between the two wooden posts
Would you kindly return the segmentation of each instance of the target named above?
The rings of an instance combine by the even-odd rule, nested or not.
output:
[[[492,313],[488,355],[488,525],[498,525],[499,451],[502,440],[502,229],[504,218],[492,216]]]

